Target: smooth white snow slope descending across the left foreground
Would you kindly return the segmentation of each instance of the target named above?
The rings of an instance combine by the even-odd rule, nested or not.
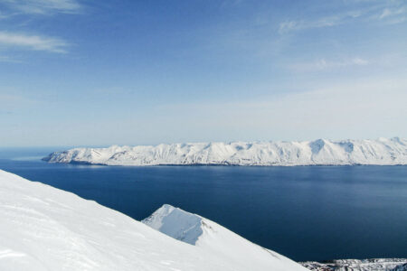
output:
[[[248,241],[227,229],[206,239],[224,245],[218,254],[170,238],[95,201],[4,171],[0,221],[2,271],[307,270],[251,243],[229,247]],[[225,257],[222,251],[241,255]],[[239,257],[244,257],[244,266]]]

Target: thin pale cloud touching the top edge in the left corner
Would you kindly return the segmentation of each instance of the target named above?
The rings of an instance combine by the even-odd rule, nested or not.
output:
[[[81,5],[76,0],[3,0],[3,5],[23,14],[77,14]]]

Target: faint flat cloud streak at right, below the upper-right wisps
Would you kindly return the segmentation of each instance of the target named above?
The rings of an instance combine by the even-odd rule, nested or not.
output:
[[[300,62],[289,65],[289,69],[295,71],[318,71],[318,70],[333,70],[336,68],[345,68],[350,66],[364,66],[369,64],[362,58],[355,57],[343,61],[327,61],[326,59],[320,59],[311,62]]]

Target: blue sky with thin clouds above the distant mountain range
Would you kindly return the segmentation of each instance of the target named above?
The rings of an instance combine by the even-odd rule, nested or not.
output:
[[[407,1],[0,1],[0,146],[393,136]]]

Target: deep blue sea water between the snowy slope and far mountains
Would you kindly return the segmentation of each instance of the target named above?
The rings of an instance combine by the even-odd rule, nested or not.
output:
[[[407,257],[407,166],[46,164],[0,149],[0,169],[142,220],[164,203],[294,260]]]

